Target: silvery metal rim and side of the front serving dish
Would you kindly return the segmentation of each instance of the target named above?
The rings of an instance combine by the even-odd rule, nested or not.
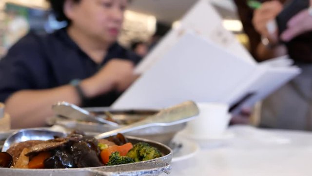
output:
[[[126,136],[129,142],[147,142],[163,154],[162,157],[130,164],[74,169],[12,169],[0,168],[0,176],[159,176],[170,174],[172,150],[155,141]]]

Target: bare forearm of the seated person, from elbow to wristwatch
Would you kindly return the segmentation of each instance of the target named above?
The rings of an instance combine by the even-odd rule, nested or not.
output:
[[[80,104],[78,94],[72,86],[14,93],[5,102],[6,112],[11,115],[12,128],[43,126],[46,117],[53,115],[52,105],[58,101]]]

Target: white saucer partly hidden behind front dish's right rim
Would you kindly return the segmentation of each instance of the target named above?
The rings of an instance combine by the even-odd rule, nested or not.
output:
[[[173,141],[176,142],[177,144],[181,144],[182,147],[178,149],[177,152],[174,152],[171,162],[177,162],[184,159],[188,159],[194,156],[199,150],[198,144],[188,139],[178,137]]]

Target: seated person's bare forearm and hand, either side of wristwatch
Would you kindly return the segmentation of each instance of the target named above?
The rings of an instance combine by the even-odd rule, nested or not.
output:
[[[111,90],[124,90],[134,81],[133,63],[113,59],[97,74],[80,82],[85,98],[94,98]],[[131,82],[130,82],[130,81]],[[6,111],[12,117],[13,128],[37,127],[45,118],[53,115],[52,105],[58,101],[81,105],[78,91],[67,85],[44,90],[21,90],[12,94],[7,101]]]

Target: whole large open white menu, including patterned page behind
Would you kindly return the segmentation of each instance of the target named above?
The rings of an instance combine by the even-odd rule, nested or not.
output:
[[[141,77],[112,108],[159,109],[193,100],[227,103],[235,113],[286,84],[300,68],[287,57],[256,63],[222,27],[209,0],[199,0],[136,72]]]

